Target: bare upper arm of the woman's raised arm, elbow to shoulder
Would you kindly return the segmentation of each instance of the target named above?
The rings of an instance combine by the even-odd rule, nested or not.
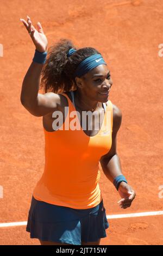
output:
[[[65,97],[61,94],[48,92],[45,94],[37,94],[37,101],[34,105],[23,105],[31,114],[36,117],[42,117],[52,111],[60,109],[64,103],[62,100]]]

